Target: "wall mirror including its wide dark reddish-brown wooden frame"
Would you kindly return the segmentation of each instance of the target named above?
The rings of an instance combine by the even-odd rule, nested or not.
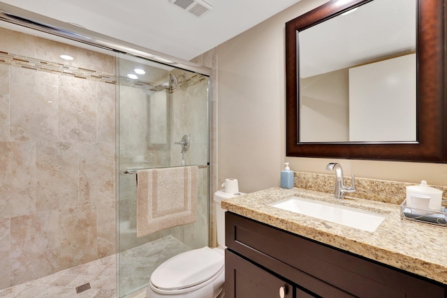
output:
[[[443,7],[332,0],[287,22],[287,156],[445,162]]]

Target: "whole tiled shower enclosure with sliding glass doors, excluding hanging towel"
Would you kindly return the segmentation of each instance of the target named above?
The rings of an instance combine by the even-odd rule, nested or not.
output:
[[[164,260],[207,246],[207,71],[1,2],[0,19],[0,296],[75,297],[78,283],[111,281],[101,290],[126,297]],[[200,166],[196,222],[137,237],[135,170],[182,165]]]

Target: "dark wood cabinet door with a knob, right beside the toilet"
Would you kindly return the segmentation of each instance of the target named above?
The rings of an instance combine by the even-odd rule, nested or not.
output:
[[[281,278],[229,251],[225,252],[226,298],[294,298],[293,290],[293,286]]]

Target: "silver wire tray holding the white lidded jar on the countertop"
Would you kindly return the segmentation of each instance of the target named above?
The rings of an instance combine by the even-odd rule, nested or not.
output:
[[[447,206],[447,200],[442,200],[442,206]],[[447,208],[447,207],[446,207]],[[420,214],[420,210],[425,214]],[[432,225],[441,225],[447,227],[447,213],[441,210],[434,211],[429,209],[416,209],[406,206],[406,200],[400,204],[400,218],[409,221],[418,221],[420,223],[430,223]]]

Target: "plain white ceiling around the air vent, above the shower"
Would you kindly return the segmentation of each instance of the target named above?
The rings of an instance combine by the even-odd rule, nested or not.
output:
[[[202,17],[168,0],[2,0],[63,22],[190,60],[300,0],[212,0]]]

